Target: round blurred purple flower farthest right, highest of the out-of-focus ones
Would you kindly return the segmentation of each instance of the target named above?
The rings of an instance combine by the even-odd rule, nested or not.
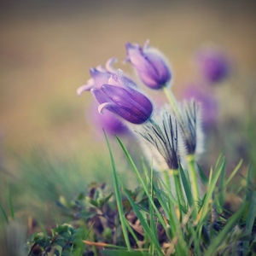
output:
[[[227,56],[218,49],[201,49],[196,55],[202,75],[211,83],[218,83],[230,73],[230,62]]]

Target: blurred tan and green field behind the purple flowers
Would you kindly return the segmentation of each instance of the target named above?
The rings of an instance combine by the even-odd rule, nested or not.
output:
[[[76,90],[90,79],[90,67],[117,57],[124,65],[125,43],[160,49],[172,66],[178,99],[195,86],[213,101],[205,125],[201,166],[215,165],[221,148],[232,171],[243,159],[255,165],[255,7],[250,1],[20,1],[0,8],[0,202],[8,209],[7,182],[16,214],[55,218],[49,208],[88,183],[112,186],[102,127],[90,117],[90,93]],[[196,61],[211,45],[228,60],[229,72],[209,83]],[[144,87],[143,87],[144,88]],[[144,88],[145,89],[145,88]],[[146,90],[146,89],[145,89]],[[147,90],[148,91],[148,90]],[[187,92],[186,92],[187,91]],[[160,92],[150,92],[158,101]],[[192,93],[193,94],[193,93]],[[204,98],[204,96],[202,96]],[[206,107],[207,108],[207,107]],[[213,109],[212,109],[213,108]],[[122,136],[137,160],[137,142]],[[118,172],[136,186],[131,168],[110,138]],[[138,149],[136,149],[138,150]],[[129,172],[123,172],[129,168]],[[7,210],[8,212],[8,210]]]

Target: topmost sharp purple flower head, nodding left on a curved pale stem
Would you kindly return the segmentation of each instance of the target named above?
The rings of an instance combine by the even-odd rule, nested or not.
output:
[[[160,89],[170,83],[172,74],[165,57],[159,50],[148,46],[147,40],[143,48],[139,44],[125,45],[127,57],[143,83],[151,89]]]

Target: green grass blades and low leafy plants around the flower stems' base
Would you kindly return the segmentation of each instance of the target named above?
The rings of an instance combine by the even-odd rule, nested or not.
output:
[[[225,159],[221,152],[210,177],[204,177],[207,193],[201,201],[195,201],[188,171],[180,166],[183,202],[172,193],[169,184],[154,177],[153,168],[148,170],[143,165],[143,172],[139,172],[124,144],[117,139],[140,186],[135,191],[125,188],[107,138],[115,199],[112,193],[106,194],[105,184],[96,183],[90,185],[89,195],[81,193],[73,201],[61,197],[58,206],[70,224],[51,230],[51,236],[45,232],[30,236],[28,255],[51,252],[55,255],[210,256],[256,252],[252,168],[248,168],[246,184],[239,190],[239,210],[232,212],[225,195],[241,161],[225,178]]]

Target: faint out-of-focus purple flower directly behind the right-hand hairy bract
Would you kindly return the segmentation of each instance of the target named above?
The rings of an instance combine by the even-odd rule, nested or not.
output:
[[[195,84],[187,85],[180,93],[182,99],[201,102],[202,123],[208,128],[218,119],[218,101],[210,90]]]

